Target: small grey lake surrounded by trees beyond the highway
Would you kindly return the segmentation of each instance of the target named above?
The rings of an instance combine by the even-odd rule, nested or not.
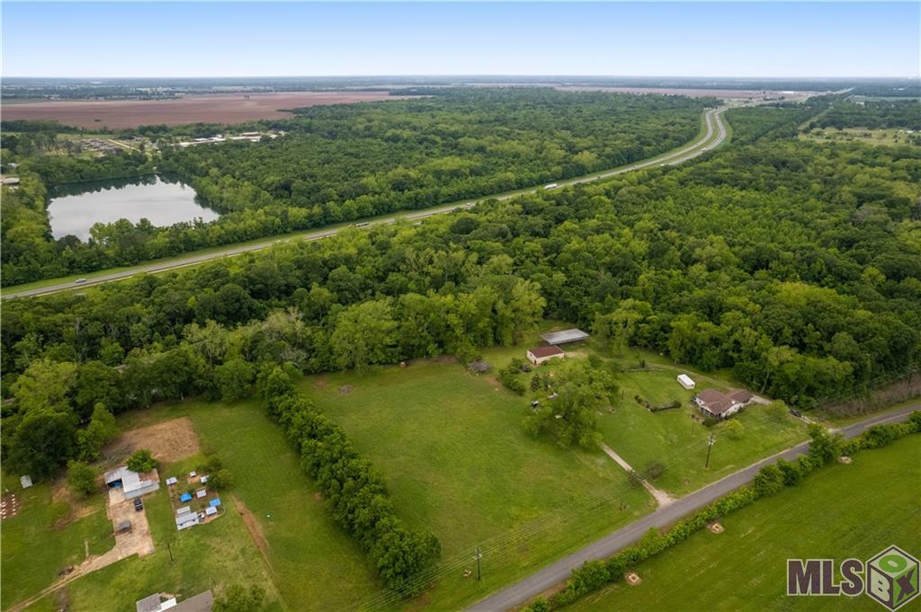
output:
[[[218,217],[191,187],[169,176],[69,183],[53,188],[50,196],[48,216],[55,238],[74,235],[86,240],[94,224],[119,219],[147,219],[164,226]]]

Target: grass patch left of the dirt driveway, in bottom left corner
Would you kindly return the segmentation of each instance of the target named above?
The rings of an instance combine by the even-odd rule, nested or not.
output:
[[[115,546],[101,493],[83,502],[80,512],[68,516],[69,506],[52,501],[52,488],[47,482],[24,490],[18,478],[5,475],[3,489],[13,491],[19,503],[19,514],[4,519],[0,525],[3,609],[56,582],[59,571],[86,559],[87,549],[92,555]]]

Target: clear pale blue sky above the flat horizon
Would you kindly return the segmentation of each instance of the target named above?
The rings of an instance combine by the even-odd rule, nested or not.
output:
[[[917,76],[921,3],[3,3],[6,76]]]

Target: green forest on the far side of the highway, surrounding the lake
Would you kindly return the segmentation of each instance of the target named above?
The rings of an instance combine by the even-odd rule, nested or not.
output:
[[[553,89],[447,89],[386,103],[313,107],[262,121],[286,135],[182,148],[190,128],[141,129],[155,156],[42,155],[54,133],[4,136],[23,186],[3,198],[5,286],[131,265],[196,248],[457,202],[627,164],[684,144],[712,98]],[[19,127],[23,127],[20,125]],[[34,127],[34,126],[33,126]],[[213,133],[218,126],[199,126]],[[52,240],[49,187],[154,171],[186,180],[223,213],[210,224],[98,224],[86,242]]]

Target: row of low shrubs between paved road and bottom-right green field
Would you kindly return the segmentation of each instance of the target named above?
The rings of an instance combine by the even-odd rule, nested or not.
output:
[[[760,498],[774,495],[784,487],[795,486],[810,472],[822,468],[838,456],[853,456],[863,449],[880,448],[910,433],[921,433],[921,411],[914,412],[909,421],[903,423],[870,427],[846,442],[840,436],[830,435],[822,426],[812,425],[812,442],[807,455],[799,456],[796,461],[780,459],[774,465],[764,466],[755,476],[752,485],[720,498],[694,516],[673,525],[664,535],[651,528],[633,546],[624,548],[610,559],[587,561],[572,572],[572,577],[562,591],[549,599],[538,598],[525,608],[525,612],[555,610],[610,583],[620,582],[628,568],[679,544],[717,518],[744,508]]]

